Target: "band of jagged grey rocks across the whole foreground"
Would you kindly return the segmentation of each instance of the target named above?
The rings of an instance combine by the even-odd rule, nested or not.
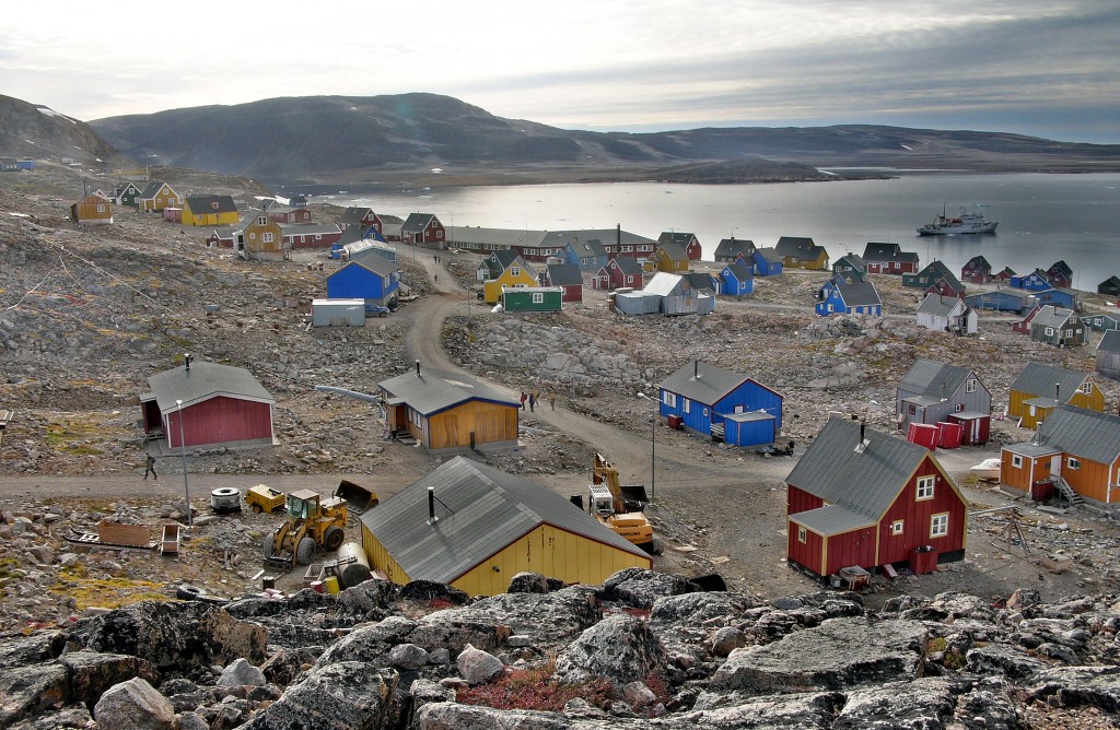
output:
[[[371,580],[0,636],[2,728],[1114,727],[1120,596],[759,602],[628,569],[468,599]]]

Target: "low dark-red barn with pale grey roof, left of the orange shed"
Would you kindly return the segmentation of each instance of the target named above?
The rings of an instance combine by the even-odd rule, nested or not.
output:
[[[169,450],[273,444],[276,401],[246,369],[187,355],[181,367],[152,375],[148,385],[151,392],[140,395],[144,433],[166,438]]]

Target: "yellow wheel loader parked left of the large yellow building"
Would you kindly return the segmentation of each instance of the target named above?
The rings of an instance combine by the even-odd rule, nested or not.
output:
[[[286,509],[288,520],[264,536],[265,565],[283,570],[291,570],[293,562],[309,565],[316,548],[330,552],[345,542],[349,513],[342,497],[299,489],[288,495]]]

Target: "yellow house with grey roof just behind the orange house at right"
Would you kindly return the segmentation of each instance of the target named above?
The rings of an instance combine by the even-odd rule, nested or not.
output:
[[[1068,403],[1086,411],[1104,410],[1104,393],[1089,373],[1027,363],[1011,383],[1007,414],[1025,429],[1036,429],[1054,409]]]

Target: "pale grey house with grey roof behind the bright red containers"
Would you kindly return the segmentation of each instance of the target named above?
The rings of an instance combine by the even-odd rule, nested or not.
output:
[[[972,414],[991,414],[991,392],[968,367],[918,358],[898,383],[895,418],[902,429]]]

